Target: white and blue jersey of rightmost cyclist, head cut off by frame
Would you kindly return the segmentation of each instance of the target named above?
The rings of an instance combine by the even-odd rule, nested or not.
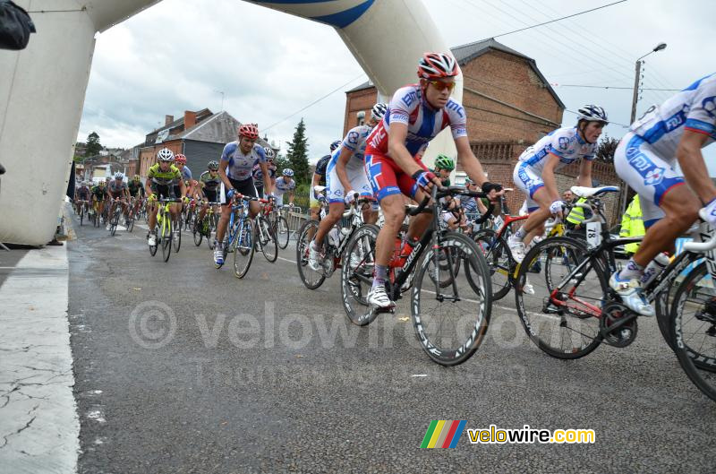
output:
[[[652,106],[629,129],[669,160],[676,159],[684,130],[708,135],[704,146],[712,143],[716,140],[716,73],[699,79],[661,106]]]

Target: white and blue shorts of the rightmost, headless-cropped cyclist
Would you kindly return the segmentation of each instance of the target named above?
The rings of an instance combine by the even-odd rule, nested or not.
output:
[[[649,142],[631,132],[614,152],[614,168],[627,185],[639,194],[644,227],[650,228],[664,217],[659,204],[676,186],[684,185],[684,175],[674,168],[676,157],[661,157]]]

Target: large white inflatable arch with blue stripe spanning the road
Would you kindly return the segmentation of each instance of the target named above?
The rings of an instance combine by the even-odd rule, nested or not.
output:
[[[32,14],[38,33],[29,47],[0,50],[0,162],[7,168],[0,188],[0,242],[39,246],[52,239],[69,179],[95,33],[158,1],[15,0],[30,11],[41,4],[42,10],[55,13]],[[333,26],[384,97],[416,80],[416,61],[424,51],[448,50],[419,0],[251,3]],[[461,82],[458,99],[459,86]],[[451,150],[449,134],[440,134],[430,146],[431,154]]]

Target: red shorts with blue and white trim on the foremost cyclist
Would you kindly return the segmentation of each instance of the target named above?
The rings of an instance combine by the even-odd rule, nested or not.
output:
[[[421,160],[415,159],[415,163],[425,171],[428,168]],[[392,194],[405,194],[413,199],[418,185],[413,177],[405,173],[396,165],[396,162],[377,150],[371,150],[371,154],[365,155],[365,171],[368,180],[373,188],[373,195],[382,201],[384,197]]]

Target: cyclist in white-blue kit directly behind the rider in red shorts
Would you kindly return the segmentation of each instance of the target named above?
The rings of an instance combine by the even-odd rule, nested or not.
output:
[[[308,264],[313,270],[319,269],[320,246],[323,246],[323,239],[330,229],[341,220],[345,204],[353,203],[355,194],[362,197],[370,197],[373,194],[368,177],[365,176],[365,140],[371,134],[373,127],[378,125],[379,120],[385,116],[386,110],[388,110],[387,104],[375,104],[371,109],[371,120],[365,125],[352,128],[345,135],[342,146],[338,146],[333,151],[333,155],[328,161],[328,168],[326,168],[328,215],[320,221],[319,228],[309,247]],[[376,214],[377,212],[373,212],[366,206],[363,209],[363,220],[373,224],[378,220]]]

